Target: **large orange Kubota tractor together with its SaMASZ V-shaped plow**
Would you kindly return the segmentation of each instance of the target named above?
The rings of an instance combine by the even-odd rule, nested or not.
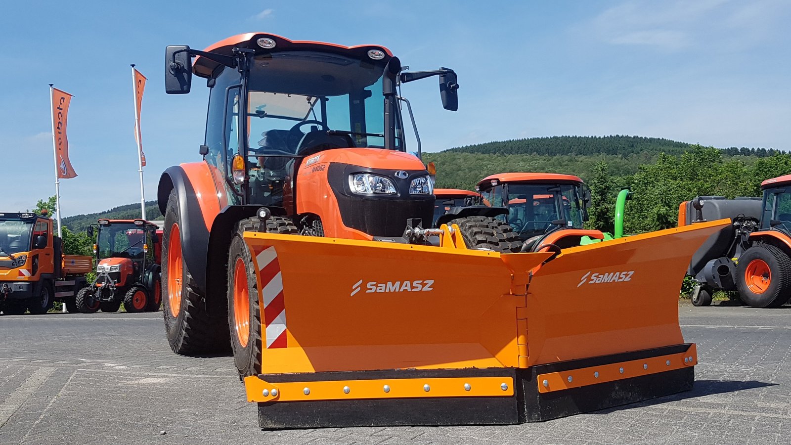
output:
[[[181,354],[230,344],[262,428],[519,423],[691,388],[668,296],[727,222],[511,253],[489,206],[434,225],[407,153],[397,87],[439,76],[455,110],[452,70],[269,33],[165,67],[168,93],[210,88],[203,161],[157,192],[165,332]]]

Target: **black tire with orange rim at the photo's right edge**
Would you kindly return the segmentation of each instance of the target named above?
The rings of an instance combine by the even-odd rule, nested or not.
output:
[[[791,258],[774,245],[756,245],[739,257],[736,287],[752,307],[780,307],[791,298]]]

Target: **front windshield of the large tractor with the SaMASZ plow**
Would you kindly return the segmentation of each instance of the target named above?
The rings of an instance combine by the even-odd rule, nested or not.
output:
[[[255,56],[248,78],[248,155],[384,148],[383,73],[383,63],[324,52]]]

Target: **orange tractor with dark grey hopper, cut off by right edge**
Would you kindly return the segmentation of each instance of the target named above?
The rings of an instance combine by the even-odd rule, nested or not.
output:
[[[791,175],[763,181],[762,198],[698,196],[679,206],[679,227],[711,219],[732,224],[712,235],[692,257],[695,306],[713,291],[739,291],[752,307],[779,307],[791,299]]]

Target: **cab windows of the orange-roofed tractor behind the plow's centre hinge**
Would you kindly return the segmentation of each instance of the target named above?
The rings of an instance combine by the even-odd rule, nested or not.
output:
[[[505,219],[520,238],[527,239],[547,231],[552,222],[565,220],[564,226],[582,228],[582,202],[577,184],[499,184],[483,192],[492,206],[506,207]]]

